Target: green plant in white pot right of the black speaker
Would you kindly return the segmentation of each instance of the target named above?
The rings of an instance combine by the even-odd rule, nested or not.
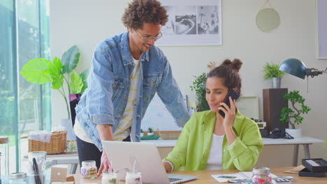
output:
[[[302,95],[300,95],[299,91],[291,91],[286,93],[284,95],[284,99],[291,102],[295,112],[289,107],[284,107],[281,111],[281,118],[279,121],[282,121],[283,123],[289,123],[291,125],[291,128],[286,128],[285,130],[287,133],[289,133],[289,135],[292,137],[301,137],[302,129],[295,128],[295,123],[298,125],[302,123],[304,118],[303,116],[300,116],[300,114],[307,114],[311,109],[304,104],[305,99],[302,97]],[[291,119],[293,119],[293,122]]]

